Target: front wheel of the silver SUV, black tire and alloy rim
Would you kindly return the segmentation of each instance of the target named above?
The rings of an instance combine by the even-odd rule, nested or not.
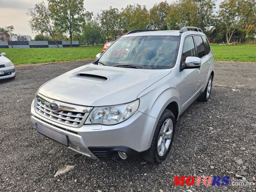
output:
[[[163,128],[165,129],[164,124],[169,125],[167,126],[168,128],[165,130],[165,133],[162,132]],[[175,131],[175,124],[176,124],[175,116],[173,115],[172,111],[168,109],[164,109],[164,112],[157,123],[151,146],[148,149],[147,154],[144,156],[144,159],[146,161],[152,164],[160,164],[166,159],[166,157],[169,154],[170,148],[172,146],[172,140],[173,140],[174,131]],[[172,127],[172,132],[171,132],[171,127]],[[160,134],[160,131],[161,131],[161,134]],[[162,139],[160,139],[160,137]],[[169,140],[168,138],[170,138],[171,140]],[[158,148],[159,143],[161,143],[160,151]],[[169,147],[167,148],[166,145],[168,146],[168,143],[169,143]],[[162,150],[162,147],[164,147],[164,145],[165,145],[166,151]]]

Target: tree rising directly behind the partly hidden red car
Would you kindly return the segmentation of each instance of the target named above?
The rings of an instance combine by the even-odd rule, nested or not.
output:
[[[97,16],[100,21],[101,27],[106,29],[106,36],[109,41],[109,31],[112,32],[113,36],[116,36],[121,30],[120,26],[120,13],[117,8],[109,7],[107,10],[101,10],[101,13]]]

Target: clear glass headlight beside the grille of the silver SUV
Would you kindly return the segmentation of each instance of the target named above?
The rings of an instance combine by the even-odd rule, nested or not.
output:
[[[139,104],[140,101],[135,100],[122,105],[95,107],[90,112],[85,124],[113,125],[121,123],[137,111]]]

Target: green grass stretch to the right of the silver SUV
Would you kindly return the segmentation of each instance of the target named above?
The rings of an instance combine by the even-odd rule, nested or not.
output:
[[[216,61],[240,61],[256,63],[256,44],[211,44]]]

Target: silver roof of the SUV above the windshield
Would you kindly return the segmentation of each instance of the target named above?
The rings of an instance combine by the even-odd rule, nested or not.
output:
[[[202,32],[198,31],[186,31],[180,33],[180,30],[168,30],[168,31],[145,31],[138,33],[131,33],[128,35],[124,35],[122,37],[131,37],[131,36],[180,36],[180,34],[184,35],[204,35]],[[204,35],[205,36],[205,35]]]

